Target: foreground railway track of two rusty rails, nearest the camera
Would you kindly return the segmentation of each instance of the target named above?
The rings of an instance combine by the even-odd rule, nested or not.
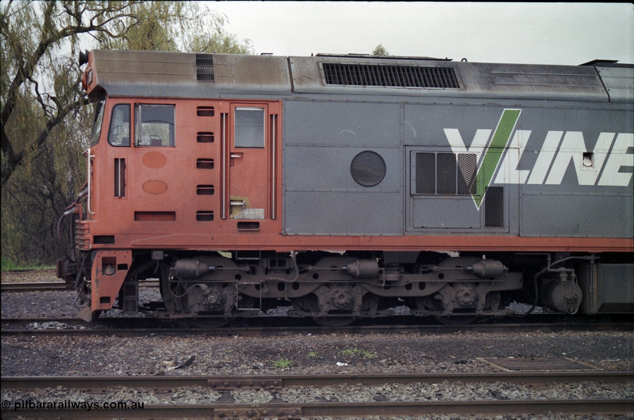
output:
[[[632,380],[633,372],[495,372],[477,374],[367,374],[367,375],[293,375],[293,376],[100,376],[100,377],[3,377],[3,389],[34,390],[52,388],[82,390],[95,395],[110,387],[125,386],[127,390],[152,389],[174,390],[193,386],[229,393],[234,390],[271,390],[283,392],[290,387],[327,387],[342,384],[375,386],[380,384],[435,384],[451,382],[513,383],[531,386],[549,386],[552,383],[602,382],[625,384]],[[18,402],[20,403],[20,402]],[[22,404],[22,403],[20,403]],[[143,408],[82,410],[61,408],[46,410],[28,408],[24,404],[18,410],[15,402],[2,410],[3,419],[34,417],[42,419],[285,419],[314,418],[321,416],[424,416],[427,414],[536,414],[541,412],[559,414],[623,414],[634,412],[634,399],[539,399],[500,400],[482,399],[468,401],[339,401],[339,402],[283,402],[271,400],[260,404],[231,404],[226,398],[215,404],[153,404]],[[68,403],[70,405],[70,403]]]

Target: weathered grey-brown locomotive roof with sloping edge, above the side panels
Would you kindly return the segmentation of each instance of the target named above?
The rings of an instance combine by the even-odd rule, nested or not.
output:
[[[453,62],[366,55],[230,55],[93,50],[89,96],[230,98],[379,95],[634,102],[634,65]],[[344,98],[342,98],[344,99]]]

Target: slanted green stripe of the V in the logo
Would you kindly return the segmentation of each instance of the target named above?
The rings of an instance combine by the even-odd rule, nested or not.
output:
[[[511,134],[519,119],[519,114],[522,112],[520,109],[505,109],[502,112],[498,126],[493,133],[493,138],[489,147],[484,152],[482,157],[482,163],[477,171],[477,192],[473,195],[475,206],[479,209],[482,200],[484,199],[484,191],[489,186],[495,170],[500,164],[500,159],[504,152],[504,149],[508,147],[508,143],[511,140]]]

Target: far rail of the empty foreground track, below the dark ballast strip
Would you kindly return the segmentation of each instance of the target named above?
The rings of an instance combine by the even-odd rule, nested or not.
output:
[[[32,390],[35,388],[73,388],[105,390],[112,386],[143,389],[173,389],[183,386],[202,386],[213,390],[282,389],[289,386],[335,386],[361,384],[410,383],[628,383],[634,372],[463,372],[463,373],[401,373],[401,374],[303,374],[303,375],[210,375],[210,376],[3,376],[3,389]]]

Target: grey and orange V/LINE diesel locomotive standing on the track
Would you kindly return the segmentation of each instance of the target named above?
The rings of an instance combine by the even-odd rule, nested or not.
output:
[[[634,310],[634,65],[93,50],[80,317]],[[162,301],[139,307],[139,281]]]

